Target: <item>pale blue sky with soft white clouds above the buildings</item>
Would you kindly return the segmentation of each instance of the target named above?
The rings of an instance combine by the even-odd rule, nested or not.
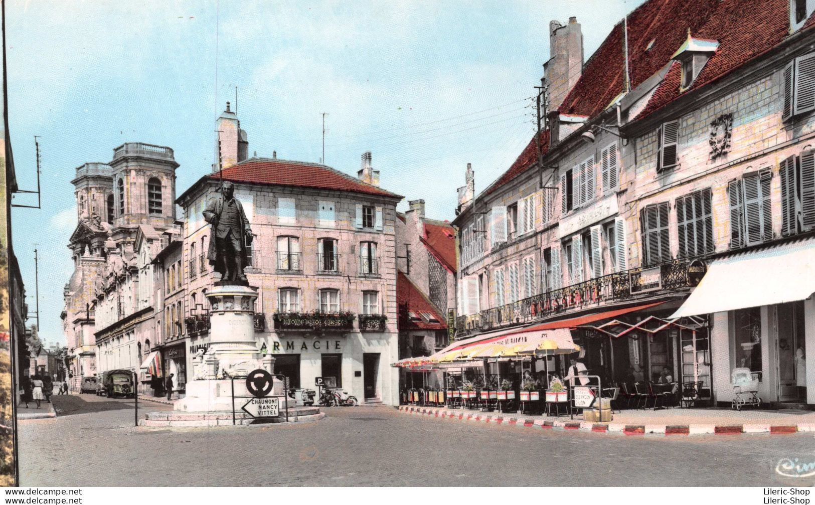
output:
[[[429,217],[452,219],[466,164],[481,191],[534,132],[549,21],[576,16],[588,59],[641,0],[6,3],[22,189],[36,186],[42,137],[42,210],[13,210],[15,253],[33,310],[38,244],[40,335],[64,343],[77,166],[125,142],[169,146],[180,195],[209,172],[237,86],[250,154],[319,161],[328,112],[328,165],[355,174],[372,151],[381,186],[406,196],[399,209],[422,198]]]

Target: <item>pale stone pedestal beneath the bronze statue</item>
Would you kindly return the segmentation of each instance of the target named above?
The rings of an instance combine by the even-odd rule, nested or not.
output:
[[[196,357],[193,380],[187,381],[187,396],[175,403],[176,411],[231,412],[232,389],[236,397],[235,410],[248,401],[245,379],[250,371],[263,368],[274,370],[274,358],[261,358],[254,332],[254,301],[256,288],[248,286],[216,286],[206,293],[209,303],[209,349]],[[271,358],[271,361],[270,359]],[[283,384],[275,381],[273,395],[283,395]]]

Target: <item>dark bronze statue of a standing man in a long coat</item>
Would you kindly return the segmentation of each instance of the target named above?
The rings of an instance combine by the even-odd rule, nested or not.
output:
[[[234,197],[235,187],[224,182],[221,196],[209,200],[204,211],[204,219],[212,225],[207,259],[221,274],[221,281],[246,283],[247,244],[252,243],[252,229],[246,219],[243,205]]]

